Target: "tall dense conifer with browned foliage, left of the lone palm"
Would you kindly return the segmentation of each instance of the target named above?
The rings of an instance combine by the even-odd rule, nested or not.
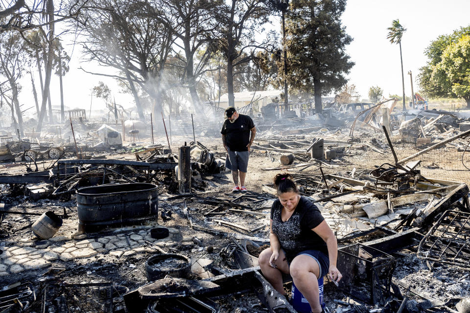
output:
[[[322,95],[347,83],[354,62],[345,48],[352,42],[341,24],[346,0],[296,0],[287,13],[288,82],[298,92],[314,93],[315,109]]]

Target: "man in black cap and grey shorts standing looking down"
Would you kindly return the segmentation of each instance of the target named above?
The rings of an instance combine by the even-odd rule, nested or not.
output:
[[[246,192],[245,176],[250,147],[256,135],[255,123],[248,115],[238,114],[234,107],[229,107],[225,110],[225,121],[220,133],[224,148],[227,150],[225,167],[232,170],[234,178],[235,187],[232,191]],[[241,187],[238,187],[238,176]]]

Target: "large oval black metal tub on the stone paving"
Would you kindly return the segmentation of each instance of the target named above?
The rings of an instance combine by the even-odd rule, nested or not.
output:
[[[78,230],[143,223],[158,218],[157,185],[110,184],[77,190]]]

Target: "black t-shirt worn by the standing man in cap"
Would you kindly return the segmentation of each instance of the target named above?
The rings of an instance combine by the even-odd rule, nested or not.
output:
[[[225,135],[227,145],[232,151],[248,151],[246,145],[250,142],[250,129],[255,127],[253,120],[244,114],[239,114],[235,122],[226,119],[220,133]]]

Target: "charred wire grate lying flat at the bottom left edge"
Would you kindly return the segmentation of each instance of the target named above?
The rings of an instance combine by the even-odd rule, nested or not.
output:
[[[113,284],[48,284],[43,290],[42,313],[112,313]]]

